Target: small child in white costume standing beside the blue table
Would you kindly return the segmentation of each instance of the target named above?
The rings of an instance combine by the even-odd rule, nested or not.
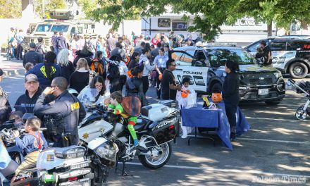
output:
[[[186,97],[182,97],[182,91],[185,92]],[[182,90],[177,92],[176,100],[178,101],[178,105],[180,109],[186,109],[194,106],[196,104],[197,94],[192,87],[190,87],[190,78],[185,77],[182,80]],[[192,128],[183,127],[182,128],[182,138],[187,137],[187,133],[192,132]]]

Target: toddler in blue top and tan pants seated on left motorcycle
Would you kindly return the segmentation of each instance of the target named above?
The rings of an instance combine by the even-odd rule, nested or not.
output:
[[[47,148],[47,142],[42,132],[38,131],[40,126],[41,120],[39,118],[30,117],[25,124],[25,132],[27,134],[25,134],[23,140],[20,140],[19,134],[14,133],[16,146],[27,153],[25,161],[16,169],[16,175],[27,168],[35,167],[40,151]]]

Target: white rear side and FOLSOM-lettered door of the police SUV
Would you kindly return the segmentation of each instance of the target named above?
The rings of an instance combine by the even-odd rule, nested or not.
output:
[[[176,69],[173,71],[177,83],[182,84],[185,77],[190,78],[190,85],[195,91],[206,92],[206,80],[209,68],[195,62],[194,56],[186,51],[170,51],[169,58],[175,60]],[[196,65],[196,66],[195,66]]]

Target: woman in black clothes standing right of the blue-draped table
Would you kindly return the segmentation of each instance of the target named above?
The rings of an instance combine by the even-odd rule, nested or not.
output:
[[[236,137],[236,113],[240,101],[239,95],[239,65],[233,61],[226,61],[226,77],[223,83],[223,100],[225,103],[226,116],[230,124],[230,139]]]

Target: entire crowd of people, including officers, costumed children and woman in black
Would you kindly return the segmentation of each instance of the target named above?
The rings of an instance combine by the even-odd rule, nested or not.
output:
[[[194,44],[190,37],[182,42],[182,37],[173,32],[169,37],[157,34],[153,38],[144,38],[140,35],[132,40],[113,33],[109,33],[106,39],[74,35],[68,44],[62,32],[54,32],[51,43],[51,51],[46,51],[43,39],[39,38],[37,44],[30,43],[30,50],[24,56],[18,56],[23,58],[27,73],[25,94],[12,105],[13,112],[6,92],[0,87],[0,125],[8,120],[13,120],[14,125],[23,125],[21,118],[24,113],[34,113],[36,116],[28,119],[25,125],[30,135],[25,135],[23,140],[16,135],[18,147],[27,149],[28,159],[33,160],[22,163],[18,171],[33,166],[38,151],[47,147],[46,140],[51,140],[53,147],[78,144],[77,125],[86,116],[82,95],[89,89],[97,91],[97,96],[93,97],[97,104],[107,106],[109,111],[128,120],[134,147],[139,145],[133,127],[137,116],[126,113],[121,104],[124,87],[125,97],[135,97],[140,100],[141,106],[148,105],[145,95],[150,86],[156,87],[157,99],[177,99],[180,108],[191,104],[190,99],[183,96],[184,92],[195,94],[189,78],[184,78],[182,85],[177,85],[173,75],[176,63],[169,58],[171,49],[182,44]],[[233,128],[232,137],[235,137],[239,67],[228,61],[225,71],[228,75],[223,85],[223,99]],[[4,72],[0,69],[0,82],[3,77]],[[71,94],[70,89],[74,89],[78,96]],[[47,135],[46,140],[43,134],[37,132],[41,120],[44,120],[45,127],[53,129],[44,134]]]

